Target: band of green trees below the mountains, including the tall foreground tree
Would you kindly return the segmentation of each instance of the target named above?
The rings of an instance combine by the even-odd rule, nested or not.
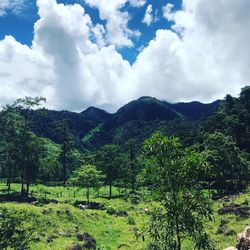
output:
[[[77,147],[67,120],[55,128],[58,144],[31,131],[32,109],[44,101],[26,97],[0,113],[0,174],[8,192],[12,182],[21,183],[23,196],[29,195],[32,182],[75,185],[86,188],[89,203],[91,188],[108,185],[111,198],[113,186],[133,195],[143,187],[161,204],[151,213],[148,249],[181,250],[185,238],[192,239],[195,249],[214,249],[204,227],[212,219],[204,189],[221,196],[248,187],[250,87],[239,98],[227,95],[214,114],[188,133],[188,142],[154,131],[142,144],[135,135],[91,151]]]

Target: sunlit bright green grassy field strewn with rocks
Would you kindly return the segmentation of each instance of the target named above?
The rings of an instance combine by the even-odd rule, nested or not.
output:
[[[3,183],[0,184],[0,192],[6,189]],[[12,185],[12,192],[20,190],[20,185]],[[34,185],[31,188],[33,196],[44,202],[45,198],[58,201],[58,203],[17,203],[1,202],[0,208],[7,208],[14,211],[22,218],[27,231],[31,232],[31,249],[67,249],[77,243],[77,233],[88,232],[97,241],[100,250],[108,249],[146,249],[149,243],[147,225],[149,215],[145,209],[152,210],[155,204],[150,201],[149,196],[141,198],[138,204],[134,204],[126,195],[119,196],[118,189],[114,189],[115,198],[107,198],[108,189],[102,188],[100,196],[92,190],[91,201],[104,204],[105,210],[85,209],[81,210],[74,206],[76,201],[85,199],[85,190],[64,187],[47,187]],[[123,192],[125,193],[125,192]],[[52,200],[52,201],[53,201]],[[207,222],[206,228],[215,243],[216,249],[221,250],[236,243],[236,233],[241,232],[246,225],[250,225],[250,218],[241,218],[234,214],[218,215],[217,211],[223,205],[231,202],[237,204],[248,204],[249,194],[232,196],[228,200],[214,202],[214,221]],[[127,216],[118,216],[107,213],[107,210],[126,212]],[[218,232],[221,221],[225,225],[223,230]],[[135,237],[135,231],[143,233],[142,237]],[[192,243],[187,239],[183,243],[184,250],[193,249]]]

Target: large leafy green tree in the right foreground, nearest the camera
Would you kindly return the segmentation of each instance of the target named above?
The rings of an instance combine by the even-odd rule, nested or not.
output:
[[[212,249],[204,220],[212,218],[210,200],[199,187],[198,177],[208,171],[204,157],[183,148],[176,137],[154,134],[144,144],[153,188],[163,208],[151,218],[149,233],[157,249],[181,250],[190,237],[197,249]]]

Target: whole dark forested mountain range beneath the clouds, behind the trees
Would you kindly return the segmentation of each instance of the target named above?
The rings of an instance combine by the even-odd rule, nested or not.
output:
[[[141,97],[114,114],[89,107],[81,113],[31,110],[29,116],[32,131],[39,136],[59,143],[58,125],[66,121],[77,147],[96,149],[107,143],[123,144],[132,138],[141,144],[155,131],[177,134],[188,141],[197,122],[214,112],[219,103],[170,104],[153,97]]]

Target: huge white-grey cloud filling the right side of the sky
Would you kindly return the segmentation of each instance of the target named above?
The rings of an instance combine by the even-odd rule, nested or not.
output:
[[[185,0],[183,10],[170,10],[178,35],[159,30],[138,56],[133,65],[138,94],[169,101],[238,94],[250,80],[250,2]]]

